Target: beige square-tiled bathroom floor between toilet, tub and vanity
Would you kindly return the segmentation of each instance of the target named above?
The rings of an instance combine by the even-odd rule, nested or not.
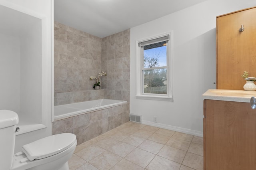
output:
[[[76,146],[70,170],[202,170],[203,138],[128,122]]]

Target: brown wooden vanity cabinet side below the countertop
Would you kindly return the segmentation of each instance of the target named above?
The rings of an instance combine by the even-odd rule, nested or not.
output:
[[[256,110],[204,99],[204,170],[256,170]]]

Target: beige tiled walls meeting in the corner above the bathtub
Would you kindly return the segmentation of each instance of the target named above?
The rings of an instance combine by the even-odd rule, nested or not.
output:
[[[96,91],[89,77],[101,71]],[[54,105],[104,98],[130,102],[130,29],[98,38],[54,22]]]

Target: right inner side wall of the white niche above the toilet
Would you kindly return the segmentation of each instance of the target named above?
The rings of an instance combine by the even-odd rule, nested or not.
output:
[[[20,36],[20,121],[42,122],[42,24],[30,19],[32,28]],[[31,24],[30,24],[31,25]]]

